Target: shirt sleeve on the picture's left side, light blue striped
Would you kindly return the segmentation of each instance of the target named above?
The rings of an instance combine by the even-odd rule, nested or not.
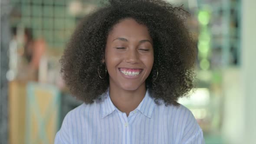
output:
[[[69,114],[64,118],[60,130],[56,134],[54,144],[70,144],[68,119]]]

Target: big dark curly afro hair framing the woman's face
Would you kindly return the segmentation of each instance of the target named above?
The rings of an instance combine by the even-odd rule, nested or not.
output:
[[[146,87],[157,104],[179,105],[177,99],[194,88],[196,46],[184,21],[187,12],[163,0],[109,0],[85,16],[60,59],[61,74],[70,92],[86,104],[109,87],[102,59],[108,33],[125,18],[148,27],[153,39],[154,64]],[[155,79],[156,78],[156,79]]]

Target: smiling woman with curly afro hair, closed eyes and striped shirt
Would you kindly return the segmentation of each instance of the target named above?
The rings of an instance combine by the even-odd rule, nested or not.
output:
[[[84,104],[66,115],[55,144],[204,143],[177,103],[194,87],[184,14],[162,0],[109,0],[82,21],[61,72]]]

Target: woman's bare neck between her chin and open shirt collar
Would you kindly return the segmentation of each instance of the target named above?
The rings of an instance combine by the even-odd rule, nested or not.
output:
[[[133,91],[124,90],[122,88],[113,88],[109,86],[109,97],[111,101],[120,111],[125,112],[128,116],[129,113],[143,100],[146,94],[145,85],[141,85],[138,89]]]

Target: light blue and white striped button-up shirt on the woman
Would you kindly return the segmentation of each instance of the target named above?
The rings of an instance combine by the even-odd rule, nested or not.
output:
[[[204,144],[201,128],[183,105],[156,105],[147,91],[127,117],[108,92],[102,97],[70,111],[54,144]]]

